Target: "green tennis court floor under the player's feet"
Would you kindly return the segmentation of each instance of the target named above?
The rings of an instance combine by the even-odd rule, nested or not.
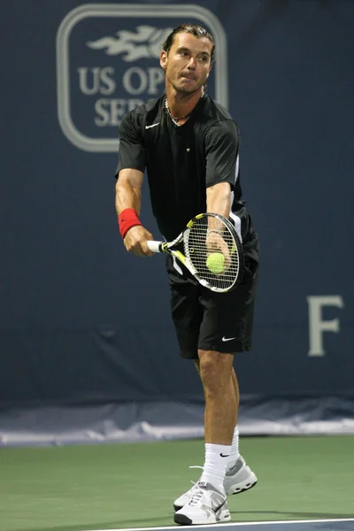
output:
[[[241,438],[258,475],[225,531],[354,531],[354,436]],[[203,441],[0,449],[0,531],[174,529]],[[210,526],[202,526],[210,527]],[[194,531],[202,527],[192,527]]]

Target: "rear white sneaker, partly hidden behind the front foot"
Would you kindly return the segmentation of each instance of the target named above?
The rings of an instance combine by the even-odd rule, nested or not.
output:
[[[191,467],[191,468],[202,468],[203,466]],[[225,480],[224,480],[224,489],[227,495],[229,494],[239,494],[244,490],[248,490],[251,487],[254,487],[257,483],[256,474],[250,470],[250,466],[246,465],[244,459],[240,456],[235,466],[231,470],[227,471]],[[189,503],[190,498],[193,496],[194,491],[197,487],[197,483],[193,485],[187,492],[182,494],[173,502],[174,511],[179,511],[185,504]]]

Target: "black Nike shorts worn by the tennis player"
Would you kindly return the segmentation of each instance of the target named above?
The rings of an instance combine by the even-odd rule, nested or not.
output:
[[[227,293],[204,288],[181,262],[167,258],[172,317],[182,358],[197,359],[198,349],[250,350],[259,269],[256,234],[244,247],[244,255],[242,282]]]

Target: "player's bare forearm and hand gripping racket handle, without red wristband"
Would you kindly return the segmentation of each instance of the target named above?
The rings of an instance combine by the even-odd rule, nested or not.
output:
[[[130,168],[120,170],[115,201],[118,216],[127,209],[134,209],[139,215],[142,205],[142,179],[143,173],[139,170]],[[126,249],[139,257],[153,256],[146,243],[148,240],[153,240],[153,236],[142,225],[130,227],[124,235]]]

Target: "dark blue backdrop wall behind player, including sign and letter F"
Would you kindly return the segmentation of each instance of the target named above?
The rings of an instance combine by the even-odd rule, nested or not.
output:
[[[18,0],[0,19],[3,435],[35,407],[140,404],[143,420],[203,403],[164,259],[128,255],[114,210],[119,120],[163,91],[159,45],[186,20],[215,37],[209,91],[240,124],[262,245],[254,349],[235,358],[244,426],[305,399],[314,421],[353,418],[354,2]],[[142,221],[158,238],[146,187]]]

